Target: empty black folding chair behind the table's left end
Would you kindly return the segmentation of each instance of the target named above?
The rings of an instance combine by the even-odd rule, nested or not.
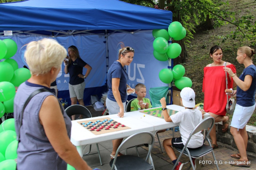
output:
[[[71,105],[68,108],[66,108],[65,111],[69,117],[75,114],[82,114],[83,116],[86,116],[86,118],[91,118],[91,112],[85,106],[82,106],[82,105]],[[88,155],[93,155],[98,153],[99,159],[101,162],[101,153],[99,151],[99,145],[96,144],[96,146],[97,146],[97,152],[90,153],[91,152],[91,145],[90,145],[89,151],[85,153],[83,156],[88,156]],[[101,162],[101,165],[102,165],[102,162]]]

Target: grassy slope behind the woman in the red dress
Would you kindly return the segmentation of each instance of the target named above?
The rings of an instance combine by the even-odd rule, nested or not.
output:
[[[225,8],[229,11],[236,12],[237,17],[245,14],[256,16],[256,3],[254,3],[253,0],[229,0],[229,6]],[[235,29],[235,26],[228,24],[221,26],[221,28],[211,30],[202,30],[199,28],[196,31],[196,34],[194,34],[194,39],[191,41],[190,48],[187,48],[189,57],[183,65],[186,70],[184,76],[190,77],[193,82],[192,88],[196,93],[196,103],[204,102],[204,93],[202,92],[203,70],[207,64],[212,63],[209,56],[209,51],[212,46],[221,46],[223,49],[222,60],[234,64],[238,76],[242,73],[244,66],[236,61],[237,48],[240,46],[250,46],[250,42],[247,40],[238,41],[228,39],[224,43],[221,43],[222,39],[218,39],[217,37],[225,36]],[[256,50],[256,46],[251,46],[251,48]],[[253,62],[255,64],[256,59],[253,59]],[[254,111],[248,124],[256,125],[256,111]]]

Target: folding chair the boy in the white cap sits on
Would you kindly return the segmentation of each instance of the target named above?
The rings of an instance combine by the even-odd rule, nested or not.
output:
[[[180,152],[181,154],[179,155],[179,158],[177,159],[176,163],[174,164],[174,167],[173,167],[173,170],[175,169],[176,165],[178,164],[179,162],[179,159],[181,159],[181,156],[182,154],[186,155],[189,157],[189,160],[191,162],[191,166],[193,168],[193,170],[195,170],[195,167],[193,165],[193,161],[192,161],[192,158],[200,158],[208,153],[212,153],[212,156],[214,158],[214,161],[217,162],[216,158],[215,158],[215,155],[214,155],[214,151],[213,151],[213,148],[212,148],[212,145],[210,144],[210,141],[208,139],[208,136],[210,134],[210,131],[212,130],[212,127],[214,126],[214,118],[213,117],[207,117],[206,119],[204,119],[203,121],[201,121],[194,129],[193,131],[190,133],[188,139],[187,139],[187,142],[186,144],[184,145],[183,149],[181,148],[176,148],[176,150],[178,152]],[[187,148],[187,144],[188,142],[190,141],[190,138],[193,136],[193,134],[195,133],[198,133],[199,131],[202,131],[206,128],[209,128],[209,131],[208,133],[206,134],[205,138],[204,138],[204,143],[206,141],[208,141],[209,143],[209,146],[208,145],[205,145],[203,144],[203,146],[199,147],[199,148],[195,148],[195,149],[188,149]],[[188,162],[186,162],[185,164],[187,164]],[[217,169],[219,169],[218,167],[218,164],[215,164]]]

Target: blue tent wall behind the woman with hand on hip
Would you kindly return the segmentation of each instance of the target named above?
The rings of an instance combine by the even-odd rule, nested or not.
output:
[[[24,60],[24,53],[26,46],[31,41],[37,41],[43,38],[49,38],[44,36],[35,35],[13,35],[0,37],[3,39],[12,39],[17,43],[18,49],[17,53],[11,57],[11,59],[16,60],[19,68],[27,63]],[[76,36],[66,36],[51,38],[57,40],[61,45],[68,50],[71,45],[77,46],[81,58],[88,63],[93,69],[89,76],[85,79],[85,88],[91,87],[101,87],[105,85],[107,79],[106,70],[106,44],[104,43],[104,36],[95,35],[76,35]],[[4,60],[4,59],[3,59]],[[83,69],[83,74],[86,73],[86,69]],[[60,73],[57,76],[57,87],[59,91],[68,90],[69,74],[64,72],[64,64],[61,64]]]

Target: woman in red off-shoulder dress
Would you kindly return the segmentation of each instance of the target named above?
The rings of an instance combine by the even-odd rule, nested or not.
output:
[[[204,67],[203,92],[204,111],[214,117],[215,122],[222,121],[222,131],[225,133],[228,130],[229,118],[226,116],[226,75],[223,67],[225,67],[226,63],[226,67],[231,68],[234,74],[236,74],[236,67],[229,62],[221,60],[222,56],[222,49],[219,46],[215,45],[210,49],[210,57],[213,63]],[[236,87],[236,83],[233,83],[233,79],[229,74],[228,77],[228,88]],[[212,139],[212,147],[214,149],[218,148],[215,125],[210,132],[210,138]]]

